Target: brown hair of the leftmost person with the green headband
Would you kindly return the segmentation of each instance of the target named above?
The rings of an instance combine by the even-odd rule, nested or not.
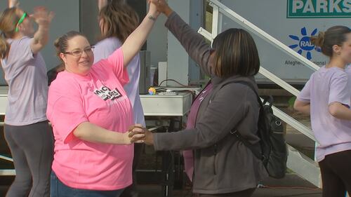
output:
[[[6,8],[0,15],[0,58],[4,59],[10,46],[6,38],[12,38],[15,35],[15,28],[20,17],[16,13],[16,8]]]

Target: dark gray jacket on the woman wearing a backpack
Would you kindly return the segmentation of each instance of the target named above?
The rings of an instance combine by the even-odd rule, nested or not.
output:
[[[154,149],[194,149],[194,193],[232,193],[255,188],[267,175],[262,162],[250,149],[230,134],[236,128],[256,144],[260,105],[253,90],[234,81],[248,81],[256,88],[253,77],[231,76],[220,79],[208,65],[208,43],[176,13],[166,27],[180,41],[190,57],[212,76],[213,90],[199,107],[195,128],[174,133],[154,134]]]

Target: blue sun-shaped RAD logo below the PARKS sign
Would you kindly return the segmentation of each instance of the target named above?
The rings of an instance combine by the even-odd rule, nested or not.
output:
[[[298,54],[303,55],[303,51],[306,52],[306,58],[308,60],[312,59],[312,50],[316,50],[317,52],[321,52],[321,49],[317,46],[314,46],[311,41],[310,41],[310,36],[314,36],[315,34],[317,34],[317,28],[314,29],[312,31],[312,33],[310,35],[307,35],[307,30],[306,27],[303,27],[301,29],[301,37],[300,36],[295,36],[295,35],[289,35],[289,37],[291,39],[293,39],[294,41],[296,41],[295,44],[292,44],[291,46],[289,46],[290,48],[294,49],[298,49]]]

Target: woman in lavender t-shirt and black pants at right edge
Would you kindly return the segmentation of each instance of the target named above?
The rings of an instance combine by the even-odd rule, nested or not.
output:
[[[351,30],[334,26],[311,42],[330,60],[312,74],[294,108],[311,116],[322,196],[344,197],[345,191],[351,194],[351,81],[345,70],[351,63]]]

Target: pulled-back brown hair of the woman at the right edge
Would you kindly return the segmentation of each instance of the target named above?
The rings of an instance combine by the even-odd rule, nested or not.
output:
[[[311,43],[322,48],[322,53],[328,57],[333,56],[333,46],[342,46],[346,41],[346,34],[349,34],[350,28],[345,26],[333,26],[326,32],[319,32],[318,36],[311,36]]]

